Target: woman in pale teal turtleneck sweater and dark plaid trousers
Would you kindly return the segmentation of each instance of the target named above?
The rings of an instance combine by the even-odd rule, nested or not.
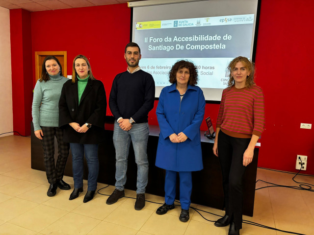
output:
[[[44,163],[50,187],[47,195],[56,194],[57,187],[68,190],[70,185],[63,178],[69,156],[69,143],[63,141],[63,131],[58,128],[58,102],[63,84],[69,79],[63,77],[62,66],[54,56],[47,56],[42,65],[33,96],[32,117],[35,136],[42,141]],[[54,136],[58,141],[58,160],[54,164]]]

